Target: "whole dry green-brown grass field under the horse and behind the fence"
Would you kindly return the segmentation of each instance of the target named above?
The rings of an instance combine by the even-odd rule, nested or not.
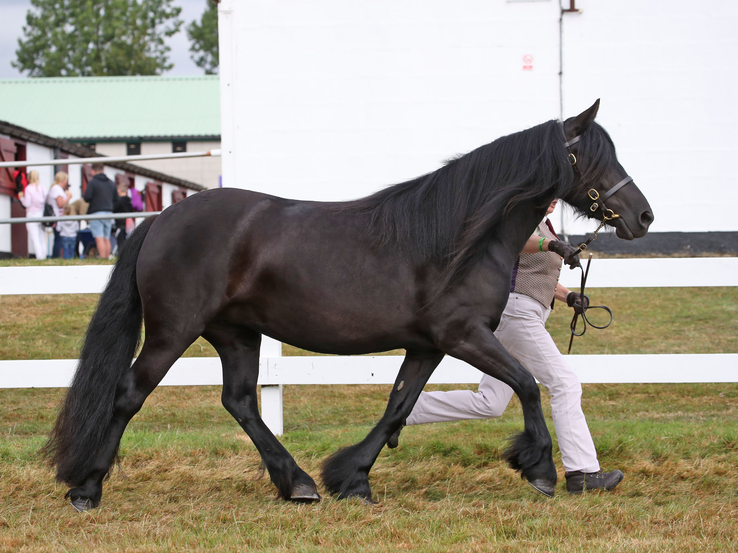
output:
[[[596,289],[590,297],[613,308],[615,322],[577,338],[574,352],[738,352],[735,288]],[[95,301],[0,296],[0,358],[76,357]],[[548,322],[562,349],[569,319],[564,308]],[[186,355],[215,352],[200,340]],[[381,417],[388,392],[286,386],[281,441],[317,479],[328,453]],[[37,456],[62,394],[0,390],[0,552],[738,550],[738,384],[585,385],[601,465],[626,474],[613,493],[567,495],[555,435],[554,499],[500,462],[506,437],[523,425],[515,398],[496,420],[406,428],[370,473],[374,507],[334,501],[322,487],[320,504],[275,500],[219,387],[162,387],[131,421],[101,507],[81,514]]]

